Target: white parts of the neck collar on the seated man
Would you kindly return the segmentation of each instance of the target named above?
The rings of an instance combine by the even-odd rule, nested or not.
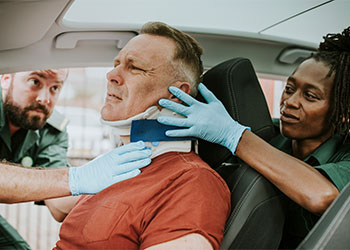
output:
[[[106,121],[101,118],[101,123],[111,128],[111,136],[113,138],[119,136],[130,136],[131,122],[133,120],[149,120],[157,119],[158,116],[171,116],[182,118],[183,116],[172,112],[166,108],[159,110],[156,106],[149,107],[145,112],[137,114],[126,120]],[[160,141],[145,142],[146,146],[151,147],[151,159],[167,152],[190,152],[191,141]]]

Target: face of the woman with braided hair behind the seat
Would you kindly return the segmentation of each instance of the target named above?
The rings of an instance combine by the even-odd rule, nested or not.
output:
[[[330,122],[334,76],[314,59],[304,61],[288,78],[280,103],[281,133],[292,139],[322,142],[333,134]]]

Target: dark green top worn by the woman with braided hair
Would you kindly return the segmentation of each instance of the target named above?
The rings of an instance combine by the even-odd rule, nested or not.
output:
[[[279,120],[274,119],[278,135],[271,144],[281,151],[292,154],[292,140],[279,133]],[[326,176],[341,191],[350,182],[350,143],[343,143],[344,138],[334,135],[304,159]],[[281,165],[283,167],[283,165]],[[295,202],[288,200],[288,212],[282,239],[282,248],[296,248],[315,225],[316,216]]]

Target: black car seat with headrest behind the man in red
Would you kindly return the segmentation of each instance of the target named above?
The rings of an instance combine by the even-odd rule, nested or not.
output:
[[[248,59],[235,58],[213,67],[204,74],[203,83],[238,122],[266,141],[274,136],[264,94]],[[197,99],[204,101],[200,95]],[[285,218],[282,193],[228,149],[203,140],[198,149],[231,191],[231,215],[221,248],[278,248]]]

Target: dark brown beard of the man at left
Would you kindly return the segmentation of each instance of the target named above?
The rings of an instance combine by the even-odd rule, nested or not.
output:
[[[37,130],[44,127],[50,115],[49,110],[39,103],[21,108],[12,102],[11,98],[7,98],[3,108],[5,116],[14,126],[28,130]],[[40,110],[43,115],[30,115],[32,110]]]

